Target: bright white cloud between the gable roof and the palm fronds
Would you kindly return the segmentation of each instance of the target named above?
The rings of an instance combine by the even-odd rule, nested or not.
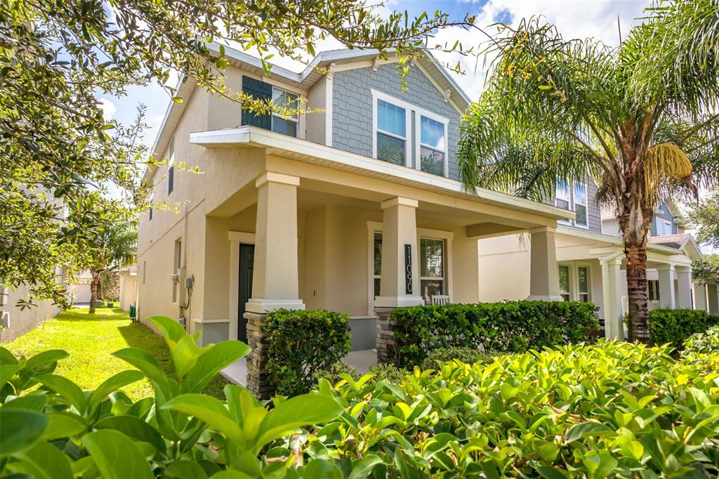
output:
[[[541,15],[556,25],[565,39],[594,37],[614,46],[619,44],[617,19],[622,37],[626,37],[632,25],[638,23],[635,19],[642,16],[650,3],[649,0],[489,0],[479,7],[479,11],[472,2],[467,3],[467,10],[477,14],[475,25],[489,34],[496,30],[487,27],[500,19],[516,26],[523,18]],[[487,36],[477,29],[467,31],[452,27],[438,32],[430,45],[453,45],[456,40],[462,42],[464,48],[476,49]],[[457,83],[471,99],[477,99],[485,79],[484,59],[462,57],[458,53],[436,53],[436,57],[449,65],[459,61],[465,74],[455,76]]]

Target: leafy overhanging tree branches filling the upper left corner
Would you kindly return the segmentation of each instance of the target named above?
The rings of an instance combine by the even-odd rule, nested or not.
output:
[[[143,111],[132,125],[106,121],[100,95],[165,86],[176,71],[244,108],[272,109],[225,86],[223,47],[208,42],[252,50],[269,69],[275,53],[313,55],[330,37],[410,58],[436,29],[471,22],[439,11],[380,17],[365,0],[0,2],[1,282],[63,303],[55,266],[88,266],[78,252],[146,201],[139,176],[162,159],[146,160]]]

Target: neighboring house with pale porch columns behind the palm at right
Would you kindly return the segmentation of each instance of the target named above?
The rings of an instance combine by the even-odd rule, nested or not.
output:
[[[557,181],[548,202],[575,212],[557,227],[556,256],[559,298],[592,301],[600,307],[608,337],[622,337],[627,311],[626,270],[623,241],[615,215],[596,201],[597,186],[590,178],[582,183]],[[661,204],[651,226],[647,245],[649,309],[693,308],[692,259],[701,252],[684,225],[676,218],[673,204]],[[526,298],[526,271],[531,247],[522,237],[480,241],[480,299]]]

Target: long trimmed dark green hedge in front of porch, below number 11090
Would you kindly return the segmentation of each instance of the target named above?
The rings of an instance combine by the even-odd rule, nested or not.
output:
[[[412,306],[393,311],[395,362],[421,365],[431,350],[470,347],[484,352],[524,352],[597,336],[597,306],[579,301]]]

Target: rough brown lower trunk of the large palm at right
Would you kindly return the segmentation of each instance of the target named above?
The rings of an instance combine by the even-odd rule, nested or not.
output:
[[[625,243],[629,340],[649,342],[649,310],[646,307],[646,246]]]

